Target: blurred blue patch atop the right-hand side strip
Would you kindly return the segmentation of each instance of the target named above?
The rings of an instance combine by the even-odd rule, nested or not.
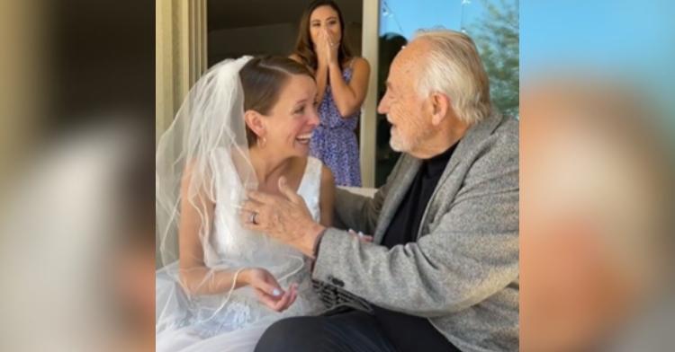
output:
[[[675,112],[675,1],[523,0],[520,75],[581,66],[639,84]]]

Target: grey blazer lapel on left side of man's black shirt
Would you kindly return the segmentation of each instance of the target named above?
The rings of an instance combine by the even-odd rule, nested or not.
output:
[[[402,168],[402,175],[393,179],[392,185],[389,185],[386,198],[384,199],[383,208],[380,212],[380,219],[377,222],[377,228],[374,233],[374,242],[380,243],[383,240],[384,233],[387,231],[389,224],[392,224],[392,218],[399,210],[403,198],[405,198],[412,181],[415,180],[419,172],[419,167],[422,162],[408,154],[403,156],[406,158],[406,163]]]

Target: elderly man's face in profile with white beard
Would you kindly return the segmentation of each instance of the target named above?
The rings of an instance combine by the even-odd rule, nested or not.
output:
[[[392,149],[412,155],[434,133],[425,100],[419,97],[415,86],[423,47],[424,43],[416,40],[396,56],[387,78],[387,92],[377,109],[392,124]]]

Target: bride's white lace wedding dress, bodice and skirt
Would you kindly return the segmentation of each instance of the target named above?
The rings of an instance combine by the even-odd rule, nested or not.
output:
[[[315,158],[308,158],[307,167],[302,177],[298,194],[305,200],[311,215],[316,221],[320,220],[320,186],[321,186],[322,163]],[[229,180],[223,180],[229,182]],[[223,183],[221,183],[223,184]],[[226,184],[226,183],[225,183]],[[240,201],[238,194],[226,194],[230,201]],[[222,199],[222,198],[219,198]],[[220,201],[219,201],[220,203]],[[274,312],[257,301],[250,287],[242,287],[231,292],[229,299],[225,300],[227,293],[215,296],[184,297],[180,286],[173,280],[171,289],[176,292],[162,296],[174,297],[175,303],[169,306],[185,307],[171,308],[182,311],[175,321],[162,322],[162,335],[171,333],[187,334],[193,339],[203,341],[213,339],[223,334],[238,334],[248,328],[269,325],[284,317],[317,314],[325,310],[320,296],[312,286],[309,258],[300,251],[277,242],[261,233],[250,233],[238,224],[238,214],[226,214],[217,205],[214,213],[214,226],[211,238],[204,245],[204,263],[209,268],[227,268],[238,270],[240,268],[266,268],[279,284],[285,288],[293,283],[298,284],[298,296],[295,303],[285,312]],[[160,297],[159,280],[162,279],[166,286],[166,276],[162,276],[162,270],[157,272],[157,300]],[[166,306],[166,304],[165,304]],[[157,307],[159,309],[159,306]],[[257,329],[260,330],[260,329]],[[244,334],[244,332],[241,332]],[[157,334],[157,346],[159,346],[159,333]],[[162,338],[164,339],[164,337]],[[253,338],[251,338],[253,339]],[[255,342],[251,341],[255,347]],[[168,348],[159,350],[183,351],[184,349]],[[228,351],[227,346],[221,347]]]

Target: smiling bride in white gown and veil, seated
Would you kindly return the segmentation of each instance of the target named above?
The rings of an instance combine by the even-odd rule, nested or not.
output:
[[[309,259],[238,220],[247,190],[278,194],[284,177],[330,225],[333,176],[307,157],[316,95],[292,59],[227,60],[195,84],[161,137],[157,351],[252,351],[273,322],[324,309]]]

